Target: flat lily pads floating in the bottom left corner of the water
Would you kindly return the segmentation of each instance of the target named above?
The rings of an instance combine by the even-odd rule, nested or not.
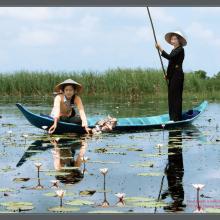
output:
[[[2,202],[1,206],[5,206],[10,211],[30,211],[34,208],[31,202]]]

